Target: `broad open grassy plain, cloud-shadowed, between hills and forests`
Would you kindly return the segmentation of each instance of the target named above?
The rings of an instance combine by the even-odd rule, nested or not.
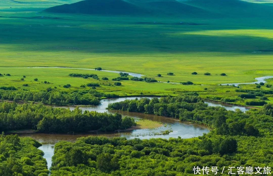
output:
[[[9,9],[0,12],[0,16],[0,73],[11,74],[11,77],[0,77],[1,86],[13,85],[29,90],[56,86],[57,89],[67,90],[62,86],[71,84],[70,89],[73,90],[79,89],[81,84],[98,82],[101,86],[97,90],[121,96],[177,95],[196,91],[203,98],[210,98],[239,94],[235,92],[235,87],[217,84],[253,82],[256,77],[273,75],[273,24],[266,17],[106,17],[50,14],[32,8],[21,8],[21,11]],[[35,66],[99,66],[105,70],[144,74],[158,81],[192,81],[197,85],[121,81],[122,86],[118,87],[106,85],[114,81],[68,76],[70,73],[96,73],[100,78],[111,80],[118,77],[115,73],[10,68]],[[191,75],[194,71],[198,75]],[[167,75],[168,72],[173,72],[174,76]],[[205,72],[212,75],[205,76]],[[227,76],[220,76],[221,73]],[[157,74],[162,77],[157,77]],[[20,81],[22,75],[26,75],[24,81]],[[39,81],[33,81],[34,78]],[[29,86],[23,87],[22,84]],[[246,85],[243,88],[255,87]]]

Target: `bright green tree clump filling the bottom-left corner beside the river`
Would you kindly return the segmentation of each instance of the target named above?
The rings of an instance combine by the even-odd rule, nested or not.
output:
[[[37,149],[40,143],[30,137],[2,133],[0,138],[1,176],[47,176],[46,159]]]

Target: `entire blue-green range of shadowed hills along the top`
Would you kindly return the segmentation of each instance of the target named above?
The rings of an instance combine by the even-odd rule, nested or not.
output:
[[[85,0],[51,7],[44,11],[51,13],[204,18],[273,15],[271,6],[241,0]]]

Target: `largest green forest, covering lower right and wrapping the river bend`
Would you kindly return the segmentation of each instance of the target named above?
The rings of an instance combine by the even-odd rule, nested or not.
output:
[[[204,123],[212,130],[194,139],[90,136],[75,143],[58,142],[51,175],[194,175],[194,166],[217,166],[217,175],[223,170],[222,175],[229,175],[229,166],[244,167],[244,172],[246,167],[253,167],[252,174],[260,171],[255,175],[266,175],[266,168],[273,167],[271,104],[243,113],[208,107],[198,96],[178,96],[142,98],[109,107]],[[232,173],[238,175],[236,171]],[[210,175],[214,173],[210,171]]]

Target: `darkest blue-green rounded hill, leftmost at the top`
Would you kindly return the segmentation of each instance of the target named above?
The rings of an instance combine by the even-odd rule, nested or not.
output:
[[[85,0],[46,9],[52,13],[84,13],[100,15],[134,15],[147,13],[137,5],[123,0]]]

